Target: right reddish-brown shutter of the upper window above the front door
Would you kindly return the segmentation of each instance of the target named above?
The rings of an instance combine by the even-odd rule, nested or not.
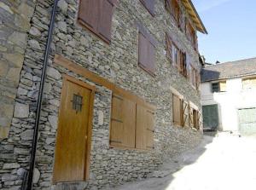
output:
[[[100,23],[98,26],[98,32],[105,37],[108,42],[111,40],[111,26],[113,16],[113,1],[102,0],[100,5]]]

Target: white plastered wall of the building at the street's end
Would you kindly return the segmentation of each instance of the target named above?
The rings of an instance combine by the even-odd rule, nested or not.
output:
[[[219,130],[239,130],[238,109],[256,107],[256,89],[242,89],[241,78],[232,78],[226,92],[212,93],[216,82],[201,83],[201,104],[218,104]]]

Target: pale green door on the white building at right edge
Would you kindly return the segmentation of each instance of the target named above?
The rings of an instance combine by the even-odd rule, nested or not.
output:
[[[256,108],[238,110],[239,130],[242,135],[256,134]]]

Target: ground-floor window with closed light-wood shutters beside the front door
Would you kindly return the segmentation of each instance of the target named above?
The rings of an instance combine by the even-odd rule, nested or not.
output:
[[[110,146],[154,148],[154,112],[122,95],[113,95]]]

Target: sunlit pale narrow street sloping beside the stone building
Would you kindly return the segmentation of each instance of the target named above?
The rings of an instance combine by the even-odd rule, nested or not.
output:
[[[152,178],[115,190],[254,190],[256,136],[205,135],[201,145],[166,163]]]

